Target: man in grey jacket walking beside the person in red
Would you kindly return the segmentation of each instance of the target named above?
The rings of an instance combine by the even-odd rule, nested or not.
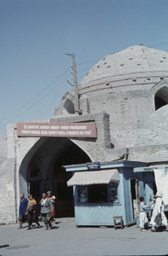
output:
[[[52,224],[50,221],[50,211],[53,213],[53,204],[47,198],[47,195],[45,193],[42,194],[42,200],[40,201],[40,204],[41,204],[42,221],[45,224],[45,230],[48,230],[48,225],[49,225],[49,229],[51,230]]]

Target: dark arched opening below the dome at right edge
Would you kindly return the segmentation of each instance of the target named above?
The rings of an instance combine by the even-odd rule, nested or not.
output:
[[[158,90],[154,96],[155,110],[168,104],[168,88],[164,87]]]

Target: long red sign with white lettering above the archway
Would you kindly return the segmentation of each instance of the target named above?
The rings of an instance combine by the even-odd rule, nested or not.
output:
[[[97,137],[95,123],[18,123],[18,137]]]

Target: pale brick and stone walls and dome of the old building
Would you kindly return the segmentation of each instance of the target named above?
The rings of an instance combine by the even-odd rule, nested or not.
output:
[[[0,169],[0,193],[5,191],[7,198],[0,210],[0,223],[16,221],[20,192],[27,195],[31,168],[40,170],[35,180],[51,178],[54,161],[71,143],[92,161],[168,163],[166,52],[132,46],[108,55],[92,67],[78,89],[79,115],[75,114],[71,91],[63,96],[52,119],[36,122],[95,122],[97,139],[18,138],[16,124],[8,125],[8,156],[1,154]]]

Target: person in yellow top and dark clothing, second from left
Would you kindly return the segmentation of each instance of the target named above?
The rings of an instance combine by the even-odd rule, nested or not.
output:
[[[27,212],[27,222],[29,224],[29,227],[27,230],[31,230],[31,224],[33,222],[35,222],[38,228],[40,228],[40,224],[38,222],[38,209],[36,207],[36,200],[33,198],[32,195],[29,195],[29,201],[28,201],[26,212]]]

